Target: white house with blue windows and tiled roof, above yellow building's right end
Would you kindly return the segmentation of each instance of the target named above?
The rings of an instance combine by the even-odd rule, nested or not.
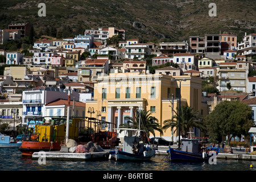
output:
[[[190,53],[175,53],[174,63],[179,64],[183,72],[197,68],[197,60]]]

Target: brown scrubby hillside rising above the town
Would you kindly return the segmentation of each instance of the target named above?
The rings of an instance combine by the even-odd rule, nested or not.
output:
[[[60,0],[40,1],[46,4],[46,17],[38,16],[38,1],[2,0],[0,28],[10,23],[30,22],[36,32],[66,26],[74,34],[85,28],[118,27],[126,30],[126,38],[141,42],[188,40],[191,35],[236,34],[256,32],[255,0]],[[217,16],[210,17],[209,3],[216,3]]]

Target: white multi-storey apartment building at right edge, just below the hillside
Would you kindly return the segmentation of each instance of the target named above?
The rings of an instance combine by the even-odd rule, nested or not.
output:
[[[245,33],[243,36],[242,42],[238,43],[237,51],[241,53],[241,55],[245,56],[253,56],[256,54],[256,34]]]

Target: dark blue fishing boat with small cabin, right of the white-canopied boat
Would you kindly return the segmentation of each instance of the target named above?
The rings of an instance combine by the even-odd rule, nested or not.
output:
[[[210,152],[216,152],[216,150],[203,148],[201,149],[201,143],[198,139],[181,139],[181,148],[174,149],[169,147],[167,153],[170,155],[171,161],[192,161],[203,162],[209,160],[212,156]]]

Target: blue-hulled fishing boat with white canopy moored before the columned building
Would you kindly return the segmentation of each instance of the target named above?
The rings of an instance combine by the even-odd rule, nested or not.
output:
[[[115,160],[130,160],[130,161],[144,161],[150,160],[152,156],[155,156],[155,148],[146,147],[142,142],[142,138],[138,135],[138,132],[142,130],[137,129],[122,129],[127,131],[128,136],[123,138],[123,148],[115,147],[114,151],[109,152],[109,159]],[[135,131],[137,134],[132,135]]]

